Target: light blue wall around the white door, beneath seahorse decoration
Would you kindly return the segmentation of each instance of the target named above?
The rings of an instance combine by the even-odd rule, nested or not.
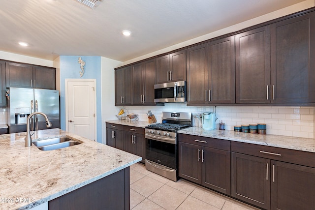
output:
[[[80,77],[78,58],[85,61],[84,75]],[[60,126],[65,130],[65,79],[96,79],[96,129],[97,142],[102,143],[101,111],[101,57],[60,56]]]

